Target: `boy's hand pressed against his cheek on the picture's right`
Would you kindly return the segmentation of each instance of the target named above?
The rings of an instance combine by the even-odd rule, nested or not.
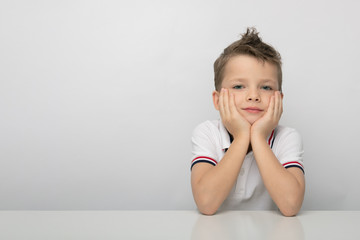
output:
[[[276,91],[270,99],[266,113],[252,124],[251,137],[260,136],[266,139],[271,131],[279,124],[282,112],[281,93]]]

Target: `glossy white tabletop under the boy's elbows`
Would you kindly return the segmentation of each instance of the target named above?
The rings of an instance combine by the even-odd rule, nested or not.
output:
[[[360,239],[360,211],[0,211],[0,239]]]

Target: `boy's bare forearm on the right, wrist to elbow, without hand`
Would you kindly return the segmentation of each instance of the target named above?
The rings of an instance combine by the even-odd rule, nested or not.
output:
[[[251,136],[251,145],[261,177],[271,198],[284,215],[296,215],[304,198],[304,185],[281,165],[266,139]]]

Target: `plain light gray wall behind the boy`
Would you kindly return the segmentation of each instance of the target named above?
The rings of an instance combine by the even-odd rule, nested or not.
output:
[[[0,209],[194,209],[193,128],[247,26],[283,57],[303,209],[360,210],[358,1],[0,1]]]

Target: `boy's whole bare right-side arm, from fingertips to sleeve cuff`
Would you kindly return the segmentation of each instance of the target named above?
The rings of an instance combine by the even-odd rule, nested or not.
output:
[[[266,137],[277,126],[281,114],[281,95],[276,92],[266,114],[251,127],[251,146],[271,198],[283,215],[294,216],[299,212],[304,199],[304,174],[298,168],[285,169],[266,142]]]

